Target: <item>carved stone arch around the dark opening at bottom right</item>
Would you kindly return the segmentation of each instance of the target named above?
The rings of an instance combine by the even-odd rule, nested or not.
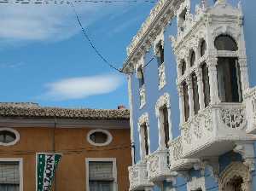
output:
[[[231,163],[220,175],[218,188],[220,191],[230,190],[229,183],[237,177],[242,178],[241,188],[243,191],[252,190],[252,177],[246,165],[239,162]]]

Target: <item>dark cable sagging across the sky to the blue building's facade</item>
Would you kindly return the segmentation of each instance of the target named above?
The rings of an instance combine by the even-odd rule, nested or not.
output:
[[[78,14],[78,12],[76,11],[76,9],[75,9],[73,3],[70,3],[70,4],[71,4],[71,6],[72,6],[72,8],[73,8],[73,12],[74,12],[74,14],[76,15],[76,18],[77,18],[78,22],[79,22],[79,26],[81,27],[81,30],[82,30],[82,32],[83,32],[83,34],[84,34],[84,37],[85,37],[86,40],[90,43],[90,47],[95,50],[96,55],[98,55],[98,56],[102,59],[102,61],[108,65],[108,67],[111,67],[113,70],[115,70],[115,71],[117,71],[117,72],[124,73],[124,74],[131,74],[131,73],[136,72],[136,71],[132,71],[132,72],[123,72],[121,69],[119,69],[119,68],[117,68],[117,67],[114,67],[113,64],[111,64],[111,63],[108,61],[108,59],[107,59],[106,57],[104,57],[104,56],[102,55],[102,53],[100,53],[100,51],[96,48],[96,45],[92,42],[92,40],[90,39],[89,35],[88,35],[87,32],[85,31],[84,26],[82,25],[81,20],[79,19],[79,14]],[[157,52],[157,53],[150,59],[150,61],[148,61],[148,63],[143,66],[143,69],[144,69],[145,67],[148,67],[148,65],[149,65],[152,61],[154,61],[154,58],[156,57],[156,55],[158,55],[158,53],[159,53],[159,52]]]

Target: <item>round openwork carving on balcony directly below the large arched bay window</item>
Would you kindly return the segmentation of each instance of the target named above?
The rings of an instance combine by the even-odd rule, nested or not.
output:
[[[228,127],[242,130],[246,122],[245,110],[243,108],[222,109],[221,119]]]

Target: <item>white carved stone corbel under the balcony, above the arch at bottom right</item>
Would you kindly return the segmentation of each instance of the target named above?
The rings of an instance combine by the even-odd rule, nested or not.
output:
[[[237,143],[234,152],[241,154],[243,164],[249,168],[249,171],[255,171],[253,143]]]

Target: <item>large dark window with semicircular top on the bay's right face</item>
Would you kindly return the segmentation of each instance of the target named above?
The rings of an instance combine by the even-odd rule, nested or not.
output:
[[[237,44],[227,35],[218,36],[215,40],[218,50],[236,51]],[[241,73],[236,57],[218,57],[218,96],[222,102],[241,102]]]

